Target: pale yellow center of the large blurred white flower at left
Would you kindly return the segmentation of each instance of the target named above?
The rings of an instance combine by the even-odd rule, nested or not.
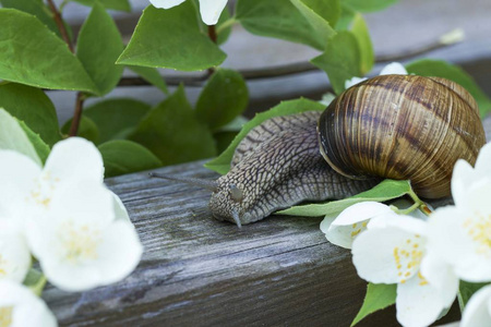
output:
[[[59,230],[63,259],[80,264],[95,261],[98,257],[97,247],[100,243],[100,231],[88,225],[75,226],[73,221],[63,222]]]

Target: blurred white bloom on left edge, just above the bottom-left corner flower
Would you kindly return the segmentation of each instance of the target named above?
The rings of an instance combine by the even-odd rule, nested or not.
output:
[[[0,219],[0,280],[22,283],[29,267],[31,252],[22,225],[13,219]]]

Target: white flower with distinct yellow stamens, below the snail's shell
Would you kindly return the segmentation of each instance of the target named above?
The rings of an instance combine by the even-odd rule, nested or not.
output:
[[[439,257],[426,255],[426,221],[400,215],[376,220],[352,243],[358,275],[374,283],[397,283],[397,320],[428,326],[452,305],[458,279]]]

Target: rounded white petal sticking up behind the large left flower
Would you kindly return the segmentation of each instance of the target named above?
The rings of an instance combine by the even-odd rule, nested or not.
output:
[[[82,137],[58,142],[46,160],[43,178],[50,180],[94,180],[103,182],[103,156],[97,147]]]

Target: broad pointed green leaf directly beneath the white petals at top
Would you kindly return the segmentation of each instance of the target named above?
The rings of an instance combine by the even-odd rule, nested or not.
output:
[[[220,64],[226,55],[200,32],[191,1],[164,10],[148,5],[118,63],[182,71]]]

